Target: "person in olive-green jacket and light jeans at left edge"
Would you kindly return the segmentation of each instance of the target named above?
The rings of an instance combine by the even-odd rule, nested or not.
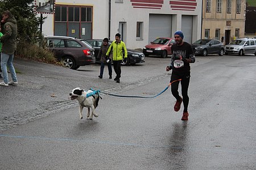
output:
[[[17,85],[18,80],[13,66],[14,52],[16,50],[16,37],[18,34],[18,29],[16,25],[16,20],[11,12],[6,10],[2,13],[3,20],[1,22],[5,23],[3,25],[3,36],[0,41],[3,43],[2,53],[1,53],[1,68],[3,73],[3,82],[0,86]],[[7,66],[11,72],[12,80],[9,82]]]

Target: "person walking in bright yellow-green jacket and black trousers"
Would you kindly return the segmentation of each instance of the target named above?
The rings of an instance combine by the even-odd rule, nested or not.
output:
[[[108,57],[109,53],[113,51],[113,66],[115,74],[117,74],[114,80],[117,81],[117,83],[120,83],[121,62],[126,62],[127,60],[127,49],[125,46],[125,42],[121,41],[120,38],[121,35],[117,33],[115,35],[115,41],[112,42],[112,44],[109,46],[108,52],[106,53],[106,57]],[[125,56],[123,56],[123,52]]]

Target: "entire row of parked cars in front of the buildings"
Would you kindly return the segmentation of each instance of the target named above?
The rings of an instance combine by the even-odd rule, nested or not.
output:
[[[65,36],[45,36],[46,46],[51,50],[55,57],[63,62],[64,66],[70,69],[78,69],[80,66],[90,65],[100,62],[97,58],[100,47],[103,43],[102,39],[75,39]],[[113,41],[109,41],[111,44]],[[166,58],[171,55],[171,46],[175,44],[174,38],[160,37],[144,46],[143,53],[138,50],[127,48],[127,60],[122,65],[135,65],[136,63],[145,62],[144,56],[155,55]],[[252,53],[256,56],[256,39],[241,38],[230,42],[230,44],[222,44],[219,40],[200,39],[192,44],[192,48],[196,55],[207,56],[208,54],[243,54]]]

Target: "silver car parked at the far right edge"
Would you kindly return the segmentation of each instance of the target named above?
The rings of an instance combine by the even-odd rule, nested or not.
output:
[[[225,45],[225,54],[254,54],[256,56],[256,39],[242,38],[236,39],[230,44]]]

